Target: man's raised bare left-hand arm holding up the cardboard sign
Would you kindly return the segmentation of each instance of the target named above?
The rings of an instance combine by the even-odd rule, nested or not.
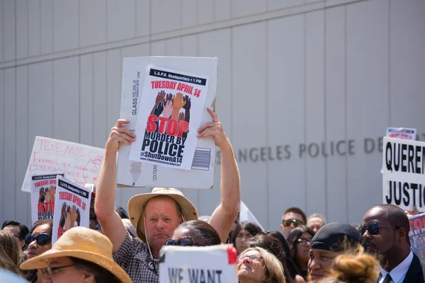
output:
[[[130,144],[135,137],[132,132],[123,127],[128,124],[126,120],[118,120],[111,129],[108,141],[106,141],[106,154],[103,160],[101,173],[99,173],[98,186],[94,209],[101,223],[103,233],[113,245],[113,253],[116,253],[125,240],[126,230],[120,216],[114,210],[115,184],[117,171],[117,151],[120,142]]]

